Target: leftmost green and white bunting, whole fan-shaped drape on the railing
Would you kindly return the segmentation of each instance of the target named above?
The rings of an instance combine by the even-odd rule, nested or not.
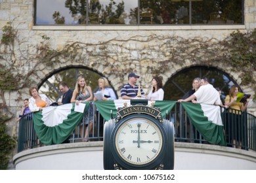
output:
[[[75,112],[75,104],[45,107],[33,113],[33,125],[37,137],[43,144],[60,144],[65,141],[81,122],[89,103],[85,103],[83,113]]]

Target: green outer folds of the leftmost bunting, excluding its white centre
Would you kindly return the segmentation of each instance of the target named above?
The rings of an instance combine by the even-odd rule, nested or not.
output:
[[[54,127],[49,127],[44,124],[42,118],[42,111],[33,113],[33,125],[35,128],[35,133],[37,137],[43,144],[51,145],[51,144],[60,144],[64,142],[74,131],[75,127],[81,122],[81,119],[85,115],[89,107],[89,103],[85,103],[85,110],[83,113],[75,112],[73,103],[73,107],[71,113],[68,114],[68,119],[63,120],[62,124],[55,125]]]

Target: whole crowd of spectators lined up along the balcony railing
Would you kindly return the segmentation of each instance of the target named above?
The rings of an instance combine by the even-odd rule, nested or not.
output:
[[[130,73],[128,75],[128,82],[121,87],[121,99],[137,99],[138,95],[141,99],[148,99],[149,101],[161,101],[164,97],[163,84],[160,76],[154,76],[151,80],[151,88],[146,95],[143,88],[137,84],[137,79],[140,78],[139,75],[135,73]],[[98,90],[96,93],[93,93],[90,86],[87,86],[85,77],[79,76],[77,78],[77,82],[75,84],[74,91],[72,91],[66,82],[61,82],[59,84],[59,90],[62,92],[62,101],[58,103],[58,105],[64,105],[67,103],[75,103],[75,105],[79,105],[79,103],[90,102],[90,101],[108,101],[117,99],[117,96],[112,88],[110,88],[110,84],[108,80],[104,77],[100,77],[98,79]],[[26,115],[30,112],[36,112],[39,110],[43,110],[44,107],[48,107],[53,105],[51,100],[45,94],[39,94],[38,89],[36,87],[32,87],[29,90],[30,99],[24,99],[24,105],[22,105],[22,110],[20,111],[20,115],[17,120],[23,115]],[[219,88],[214,88],[213,85],[209,84],[209,80],[207,78],[194,78],[192,80],[192,89],[188,90],[182,99],[179,99],[178,102],[192,102],[194,104],[204,103],[208,105],[219,105],[220,107],[235,109],[228,110],[230,114],[235,114],[235,119],[232,121],[232,124],[228,125],[228,129],[226,131],[234,131],[236,129],[236,135],[230,137],[233,141],[235,148],[241,148],[242,142],[236,141],[239,139],[238,136],[241,136],[241,131],[244,125],[238,123],[241,120],[238,120],[239,115],[242,111],[246,110],[247,105],[249,103],[249,99],[244,103],[237,101],[237,93],[239,92],[239,87],[234,85],[230,88],[229,95],[226,95],[226,99],[224,99],[224,103],[221,100],[221,90]],[[95,95],[94,95],[95,94]],[[85,114],[83,119],[80,122],[80,131],[79,135],[82,141],[89,141],[89,131],[91,131],[93,127],[93,104],[90,103],[89,112]],[[96,109],[96,113],[99,116],[100,122],[100,135],[103,135],[103,124],[104,120],[102,116],[99,114]],[[231,119],[231,118],[230,118]],[[192,124],[190,124],[192,125]],[[240,130],[241,129],[241,130]]]

